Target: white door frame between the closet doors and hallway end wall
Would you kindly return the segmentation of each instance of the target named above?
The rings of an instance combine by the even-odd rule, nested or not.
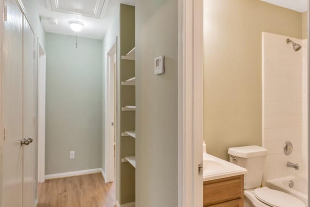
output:
[[[38,183],[45,182],[45,130],[46,130],[46,52],[42,44],[38,42]],[[43,86],[43,87],[42,87]]]

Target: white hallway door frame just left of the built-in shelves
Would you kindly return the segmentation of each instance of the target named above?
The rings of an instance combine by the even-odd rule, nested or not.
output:
[[[111,67],[111,60],[114,60],[115,58],[115,66],[114,68]],[[113,70],[114,73],[114,99],[112,102],[114,102],[114,137],[109,137],[108,134],[108,128],[110,126],[109,122],[109,116],[107,115],[107,111],[109,109],[109,74]],[[114,155],[114,140],[116,140],[116,126],[117,126],[117,120],[116,120],[116,110],[117,110],[117,37],[113,41],[111,47],[109,48],[107,54],[106,54],[106,84],[105,84],[105,182],[114,182],[114,170],[116,168],[115,166],[115,156]],[[116,147],[115,147],[116,150]]]

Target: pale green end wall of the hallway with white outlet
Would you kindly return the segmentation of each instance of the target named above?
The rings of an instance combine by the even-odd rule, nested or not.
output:
[[[102,41],[75,41],[46,34],[46,175],[101,167]]]

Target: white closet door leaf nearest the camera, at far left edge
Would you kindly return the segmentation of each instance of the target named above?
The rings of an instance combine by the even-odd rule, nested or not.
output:
[[[22,205],[22,28],[23,15],[14,0],[5,0],[4,70],[2,76],[3,125],[2,207]]]

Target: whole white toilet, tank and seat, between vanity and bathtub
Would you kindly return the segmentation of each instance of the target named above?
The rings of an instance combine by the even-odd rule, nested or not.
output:
[[[244,207],[306,207],[294,196],[262,187],[267,149],[260,146],[231,147],[230,162],[248,170],[244,175]]]

